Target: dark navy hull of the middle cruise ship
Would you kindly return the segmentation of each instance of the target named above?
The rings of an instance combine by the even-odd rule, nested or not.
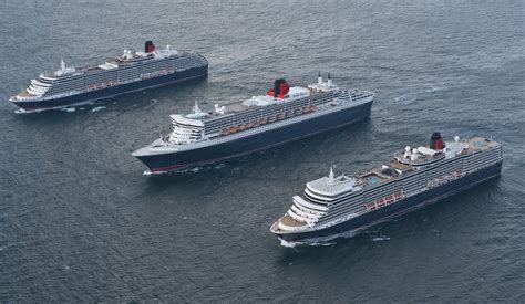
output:
[[[186,151],[136,156],[152,174],[186,170],[248,153],[267,149],[301,137],[341,127],[370,116],[372,102],[291,125]]]

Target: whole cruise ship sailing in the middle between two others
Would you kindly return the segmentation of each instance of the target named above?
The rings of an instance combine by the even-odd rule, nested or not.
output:
[[[265,95],[171,115],[171,134],[133,156],[148,167],[145,175],[187,170],[348,125],[370,116],[372,102],[373,93],[340,88],[330,74],[307,87],[281,78]]]

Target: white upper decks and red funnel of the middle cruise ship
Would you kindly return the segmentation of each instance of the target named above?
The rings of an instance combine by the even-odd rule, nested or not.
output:
[[[169,147],[182,150],[213,145],[372,101],[372,93],[339,88],[330,77],[323,82],[320,74],[318,83],[308,87],[290,87],[286,81],[278,80],[266,95],[239,103],[215,104],[210,112],[203,112],[195,103],[193,113],[171,115],[172,133],[146,149],[155,153]]]

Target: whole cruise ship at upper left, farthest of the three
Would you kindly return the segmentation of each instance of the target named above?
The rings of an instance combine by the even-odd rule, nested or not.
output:
[[[143,52],[124,50],[97,65],[73,67],[62,60],[58,71],[31,80],[29,87],[10,101],[20,108],[17,113],[41,112],[205,77],[207,73],[208,62],[203,55],[169,45],[156,49],[146,41]]]

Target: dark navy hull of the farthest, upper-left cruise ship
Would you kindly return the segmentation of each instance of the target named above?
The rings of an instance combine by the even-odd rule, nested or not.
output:
[[[22,113],[40,112],[45,109],[56,109],[66,106],[86,104],[94,101],[111,98],[117,95],[138,92],[147,88],[159,87],[167,84],[181,83],[184,81],[197,80],[206,77],[208,74],[208,66],[204,65],[200,67],[188,69],[182,72],[175,72],[169,75],[159,76],[150,80],[136,81],[132,83],[121,84],[107,88],[91,91],[66,97],[55,99],[42,99],[31,102],[18,102],[13,101]]]

